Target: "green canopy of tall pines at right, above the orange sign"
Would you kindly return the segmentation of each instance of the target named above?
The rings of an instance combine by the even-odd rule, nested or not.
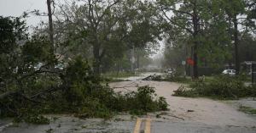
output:
[[[248,44],[243,39],[242,42],[238,42],[240,36],[246,38],[243,35],[255,34],[255,18],[252,17],[255,8],[253,1],[157,0],[156,2],[162,14],[166,36],[167,66],[181,64],[182,60],[190,57],[195,60],[194,68],[191,69],[194,71],[193,74],[196,74],[196,64],[221,68],[224,64],[236,60],[236,71],[239,73],[239,57],[244,61],[253,60],[251,54],[253,46],[250,46],[252,49],[241,48]],[[238,30],[239,26],[243,28]],[[247,41],[254,44],[250,39]],[[233,45],[236,46],[235,49]]]

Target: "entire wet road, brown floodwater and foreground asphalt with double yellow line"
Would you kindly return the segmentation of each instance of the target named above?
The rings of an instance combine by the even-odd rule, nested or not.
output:
[[[114,91],[136,91],[137,86],[153,86],[159,97],[166,97],[170,111],[140,116],[119,114],[113,119],[77,119],[53,115],[50,125],[12,125],[3,133],[255,133],[255,116],[237,111],[230,103],[207,98],[173,97],[181,84],[166,81],[141,80],[142,76],[111,83]],[[160,75],[160,74],[158,74]],[[127,80],[127,79],[126,79]],[[256,103],[251,103],[256,105]]]

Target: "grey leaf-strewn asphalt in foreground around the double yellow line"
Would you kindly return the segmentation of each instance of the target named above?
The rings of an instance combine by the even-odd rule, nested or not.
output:
[[[240,127],[232,125],[204,125],[181,119],[150,119],[147,132],[146,116],[142,118],[138,132],[135,132],[137,119],[128,115],[119,118],[77,119],[71,116],[54,116],[50,125],[11,125],[3,133],[255,133],[255,127]],[[57,118],[57,119],[56,119]],[[124,119],[122,119],[124,118]]]

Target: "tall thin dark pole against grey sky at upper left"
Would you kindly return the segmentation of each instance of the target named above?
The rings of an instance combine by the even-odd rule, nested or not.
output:
[[[50,51],[52,54],[54,54],[55,46],[54,46],[54,31],[53,31],[53,24],[52,24],[51,0],[47,0],[47,7],[48,7],[48,18],[49,18]]]

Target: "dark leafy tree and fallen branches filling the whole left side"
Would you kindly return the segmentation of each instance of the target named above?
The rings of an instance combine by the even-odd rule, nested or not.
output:
[[[0,16],[0,30],[0,117],[47,124],[43,114],[109,118],[121,111],[146,114],[167,108],[165,98],[153,97],[149,86],[125,95],[114,92],[103,85],[91,60],[79,53],[56,55],[48,36],[28,36],[20,18]]]

